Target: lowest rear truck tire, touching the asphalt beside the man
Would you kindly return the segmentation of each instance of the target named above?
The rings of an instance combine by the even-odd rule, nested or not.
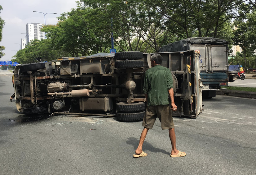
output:
[[[134,113],[123,113],[117,112],[116,119],[119,121],[138,121],[144,118],[145,111],[134,112]]]

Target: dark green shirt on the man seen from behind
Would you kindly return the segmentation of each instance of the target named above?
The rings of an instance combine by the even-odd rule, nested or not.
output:
[[[173,88],[170,69],[155,65],[145,73],[143,92],[147,94],[147,106],[168,105],[168,90]]]

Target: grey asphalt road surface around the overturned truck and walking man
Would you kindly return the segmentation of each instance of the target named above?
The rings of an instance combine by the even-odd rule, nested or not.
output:
[[[174,118],[172,158],[168,130],[159,120],[146,137],[146,157],[133,158],[142,127],[115,118],[32,116],[17,112],[12,74],[0,74],[1,175],[254,175],[255,99],[217,96],[204,100],[197,119]],[[15,121],[10,121],[15,120]],[[96,129],[91,130],[89,129]]]

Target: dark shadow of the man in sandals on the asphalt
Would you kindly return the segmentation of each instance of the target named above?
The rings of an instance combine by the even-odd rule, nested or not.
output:
[[[134,147],[134,150],[135,150],[135,149],[137,149],[139,139],[137,139],[135,137],[129,137],[128,141],[126,141],[126,143],[132,145]],[[151,152],[162,152],[162,153],[167,154],[167,155],[171,154],[171,152],[167,152],[163,149],[155,148],[154,146],[152,146],[152,144],[150,144],[149,142],[146,142],[146,141],[144,141],[143,149],[151,151]]]

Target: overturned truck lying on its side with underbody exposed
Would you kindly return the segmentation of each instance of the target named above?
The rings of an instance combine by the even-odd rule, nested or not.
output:
[[[17,65],[17,110],[27,115],[45,112],[141,120],[146,109],[142,83],[153,54],[98,53]],[[173,115],[197,117],[202,110],[198,55],[194,51],[160,54],[162,66],[172,72],[177,105]]]

